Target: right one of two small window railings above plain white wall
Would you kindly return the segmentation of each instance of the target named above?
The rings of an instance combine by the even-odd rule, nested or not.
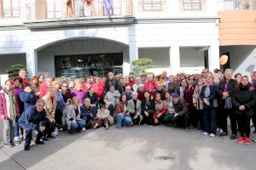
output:
[[[207,0],[180,0],[183,11],[202,11],[207,8]]]

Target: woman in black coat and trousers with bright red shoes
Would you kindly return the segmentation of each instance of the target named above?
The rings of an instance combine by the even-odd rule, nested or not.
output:
[[[254,115],[253,106],[256,104],[256,95],[247,76],[241,77],[241,82],[232,96],[232,102],[241,130],[241,136],[236,143],[250,144],[250,123],[251,117]]]

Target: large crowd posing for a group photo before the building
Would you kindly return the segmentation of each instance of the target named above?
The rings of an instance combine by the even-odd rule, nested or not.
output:
[[[122,74],[108,77],[44,79],[44,75],[10,79],[0,89],[3,145],[13,147],[25,140],[44,144],[60,131],[133,125],[168,125],[195,128],[210,137],[227,136],[250,144],[251,120],[256,125],[256,71],[249,77],[233,71],[204,69],[201,74],[167,76]],[[237,132],[240,132],[238,135]],[[254,130],[255,133],[255,130]],[[256,138],[252,138],[256,141]]]

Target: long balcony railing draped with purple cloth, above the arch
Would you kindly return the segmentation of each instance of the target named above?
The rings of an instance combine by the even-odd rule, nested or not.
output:
[[[92,3],[27,3],[26,17],[28,20],[68,19],[79,17],[102,17],[110,15],[131,15],[132,0],[113,1],[113,8],[104,9],[103,0],[93,0]]]

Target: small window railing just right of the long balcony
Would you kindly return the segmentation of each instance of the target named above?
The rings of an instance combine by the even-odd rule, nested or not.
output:
[[[140,11],[166,11],[166,1],[161,0],[148,0],[139,1]]]

